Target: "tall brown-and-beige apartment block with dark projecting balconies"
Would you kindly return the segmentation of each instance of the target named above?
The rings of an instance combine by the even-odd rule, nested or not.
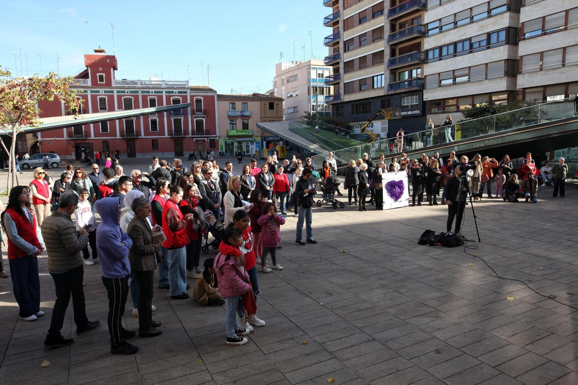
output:
[[[420,131],[423,109],[425,0],[323,0],[332,13],[324,25],[332,34],[325,64],[334,85],[332,115],[360,127],[381,108],[399,109],[399,119],[373,121],[381,137],[399,128]]]

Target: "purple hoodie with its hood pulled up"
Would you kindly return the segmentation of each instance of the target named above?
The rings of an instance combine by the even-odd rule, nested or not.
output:
[[[122,278],[131,273],[128,249],[132,240],[118,225],[120,212],[118,198],[102,198],[94,203],[94,208],[102,218],[97,228],[98,259],[101,260],[102,276]],[[122,245],[121,242],[124,242]]]

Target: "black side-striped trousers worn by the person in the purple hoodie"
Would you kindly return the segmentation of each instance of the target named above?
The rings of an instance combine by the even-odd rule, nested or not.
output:
[[[121,335],[121,331],[123,330],[122,322],[124,316],[124,306],[127,304],[128,277],[128,275],[122,278],[102,277],[102,283],[105,284],[109,298],[108,326],[110,341],[113,343],[113,345],[124,342],[124,337]],[[146,310],[146,308],[142,309]],[[151,309],[150,304],[149,309]],[[139,306],[139,315],[140,310],[141,308]]]

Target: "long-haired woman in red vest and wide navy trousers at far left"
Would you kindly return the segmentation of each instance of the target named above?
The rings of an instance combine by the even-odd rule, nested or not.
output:
[[[35,172],[36,173],[36,172]],[[20,312],[18,318],[35,321],[40,311],[38,256],[42,254],[40,228],[30,207],[30,188],[16,186],[10,190],[8,205],[2,213],[2,229],[8,235],[8,263],[14,297]]]

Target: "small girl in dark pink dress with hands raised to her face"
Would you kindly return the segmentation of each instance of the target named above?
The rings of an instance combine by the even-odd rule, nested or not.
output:
[[[273,203],[265,203],[262,210],[262,216],[257,220],[261,225],[261,242],[263,245],[263,254],[261,254],[261,271],[270,273],[271,269],[266,266],[267,254],[271,253],[272,268],[283,270],[283,267],[277,264],[277,246],[281,240],[280,227],[285,224],[285,219],[277,214],[277,208]]]

